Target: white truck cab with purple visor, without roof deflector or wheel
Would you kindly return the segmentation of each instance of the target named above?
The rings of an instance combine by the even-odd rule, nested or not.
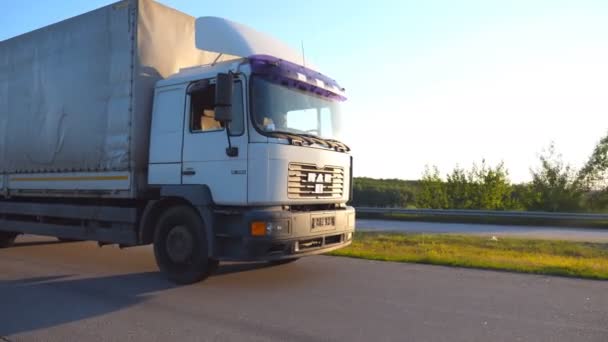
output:
[[[214,258],[284,260],[350,243],[352,158],[338,140],[335,81],[256,55],[184,70],[154,99],[148,182],[208,189]]]

